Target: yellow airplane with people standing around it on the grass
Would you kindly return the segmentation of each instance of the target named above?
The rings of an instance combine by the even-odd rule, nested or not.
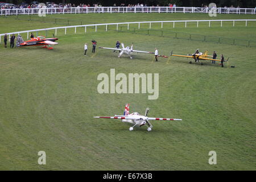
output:
[[[187,58],[192,58],[195,60],[195,62],[199,62],[199,60],[209,60],[209,61],[221,61],[219,59],[210,59],[210,58],[207,58],[207,57],[213,57],[213,56],[209,56],[207,55],[208,54],[208,51],[205,51],[205,53],[202,53],[202,52],[199,52],[198,49],[196,50],[195,53],[193,53],[192,55],[187,55],[187,56],[184,56],[184,55],[173,55],[172,52],[171,52],[171,56],[179,56],[179,57],[187,57]],[[228,61],[229,58],[227,60],[224,60],[224,62]],[[189,63],[192,63],[192,61],[190,61]],[[203,63],[201,63],[203,64]]]

